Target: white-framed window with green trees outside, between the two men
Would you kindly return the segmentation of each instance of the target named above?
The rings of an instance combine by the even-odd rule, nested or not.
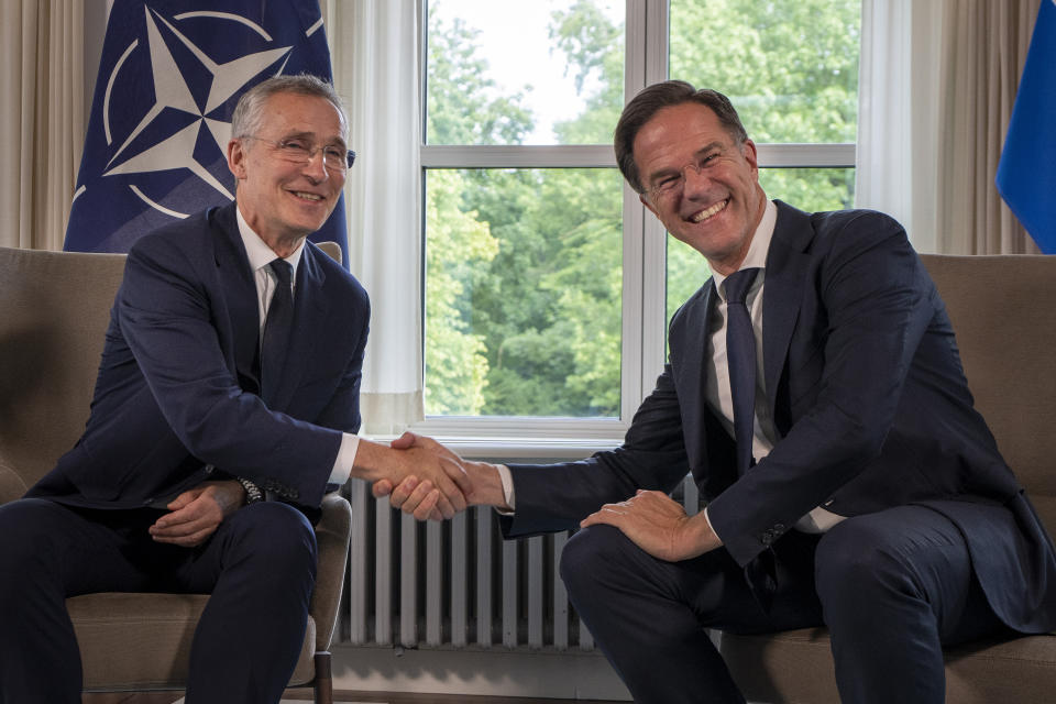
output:
[[[769,197],[847,207],[859,2],[425,4],[426,430],[617,440],[707,276],[615,168],[624,96],[722,90]]]

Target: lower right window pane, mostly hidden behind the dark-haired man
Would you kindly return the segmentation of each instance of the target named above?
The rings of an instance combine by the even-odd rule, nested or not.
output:
[[[855,199],[853,168],[760,168],[759,183],[767,198],[807,212],[850,208]],[[696,250],[668,235],[668,320],[711,275]]]

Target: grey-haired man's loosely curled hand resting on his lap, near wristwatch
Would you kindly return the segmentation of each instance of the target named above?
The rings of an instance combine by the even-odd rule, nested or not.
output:
[[[194,548],[206,541],[224,518],[245,499],[245,490],[235,481],[205,482],[177,496],[166,514],[151,526],[157,542]]]

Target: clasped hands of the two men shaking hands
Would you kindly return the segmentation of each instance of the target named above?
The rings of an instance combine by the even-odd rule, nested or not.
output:
[[[418,520],[443,520],[468,506],[508,509],[498,468],[469,462],[432,438],[405,432],[385,447],[360,441],[353,476],[373,482],[375,498]]]

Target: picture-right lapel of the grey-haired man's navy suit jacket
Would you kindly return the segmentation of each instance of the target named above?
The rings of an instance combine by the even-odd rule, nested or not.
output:
[[[326,256],[305,242],[305,252],[297,267],[297,286],[294,293],[294,329],[290,336],[289,351],[283,377],[272,402],[272,410],[285,410],[300,385],[305,370],[311,366],[309,359],[318,342],[320,330],[324,330],[330,304],[323,293],[326,274],[317,257]]]

